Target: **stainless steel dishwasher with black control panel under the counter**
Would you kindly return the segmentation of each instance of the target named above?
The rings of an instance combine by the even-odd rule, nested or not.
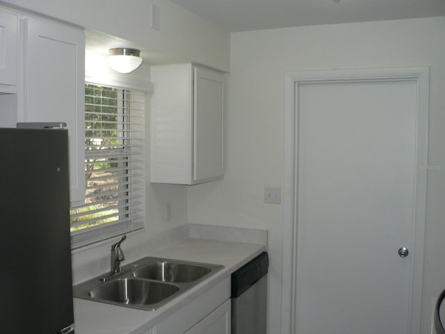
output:
[[[266,334],[268,254],[232,273],[232,334]]]

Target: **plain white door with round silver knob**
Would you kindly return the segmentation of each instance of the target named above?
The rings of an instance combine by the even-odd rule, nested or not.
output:
[[[295,333],[410,333],[417,81],[295,89]]]

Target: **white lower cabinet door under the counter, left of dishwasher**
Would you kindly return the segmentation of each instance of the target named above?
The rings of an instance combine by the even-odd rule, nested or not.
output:
[[[230,299],[184,334],[230,334]]]

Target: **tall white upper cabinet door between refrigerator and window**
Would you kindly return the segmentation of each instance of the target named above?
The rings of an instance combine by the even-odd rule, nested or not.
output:
[[[36,17],[26,29],[24,111],[19,122],[66,122],[70,148],[70,200],[85,196],[85,35],[72,26]]]

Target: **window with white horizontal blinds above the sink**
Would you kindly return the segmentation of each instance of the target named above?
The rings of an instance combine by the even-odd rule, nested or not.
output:
[[[86,84],[86,199],[71,209],[76,246],[143,228],[145,95]]]

